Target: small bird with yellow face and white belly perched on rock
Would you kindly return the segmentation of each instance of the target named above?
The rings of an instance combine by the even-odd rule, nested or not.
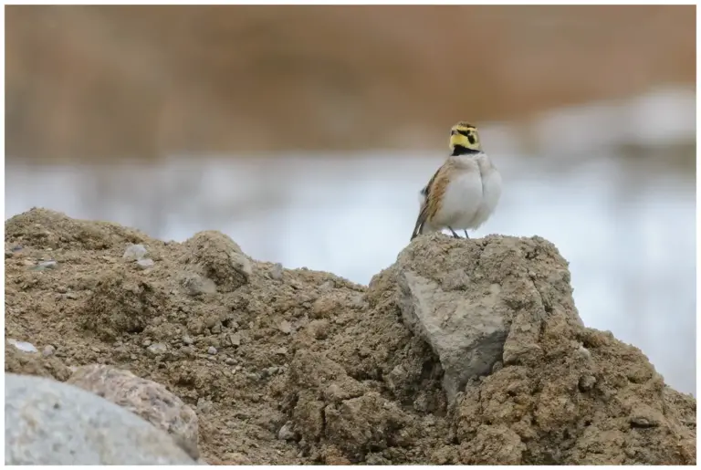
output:
[[[487,222],[501,197],[501,174],[482,151],[477,128],[460,121],[450,130],[450,156],[419,193],[421,209],[412,240],[448,228],[475,230]]]

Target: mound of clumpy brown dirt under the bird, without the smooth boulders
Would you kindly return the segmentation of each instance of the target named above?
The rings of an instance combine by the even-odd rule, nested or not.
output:
[[[210,464],[696,463],[696,400],[581,325],[539,237],[420,237],[363,287],[216,232],[163,243],[42,209],[5,231],[5,339],[37,348],[7,344],[5,371],[162,383]]]

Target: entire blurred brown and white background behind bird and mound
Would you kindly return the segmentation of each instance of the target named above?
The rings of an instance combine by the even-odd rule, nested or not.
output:
[[[5,7],[5,218],[43,206],[367,284],[469,120],[584,323],[696,392],[696,7]]]

